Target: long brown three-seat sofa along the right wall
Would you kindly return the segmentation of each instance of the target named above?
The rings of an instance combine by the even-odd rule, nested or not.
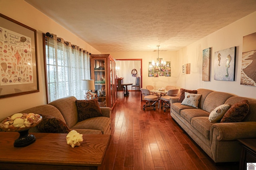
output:
[[[256,100],[234,96],[224,92],[198,89],[202,94],[198,109],[181,105],[179,97],[172,97],[171,116],[188,135],[214,160],[214,162],[238,162],[241,145],[237,139],[256,138]],[[248,100],[249,113],[242,122],[210,122],[210,112],[222,104],[233,105]]]

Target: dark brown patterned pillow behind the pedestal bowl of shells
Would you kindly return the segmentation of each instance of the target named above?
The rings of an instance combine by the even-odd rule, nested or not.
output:
[[[41,133],[69,133],[70,129],[62,120],[50,116],[42,115],[42,121],[36,126]]]

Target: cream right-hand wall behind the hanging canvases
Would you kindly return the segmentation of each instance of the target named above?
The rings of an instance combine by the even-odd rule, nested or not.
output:
[[[178,70],[177,86],[187,89],[208,88],[256,98],[255,86],[240,85],[243,36],[254,32],[256,32],[256,12],[178,51],[177,66],[190,63],[191,73],[181,74],[181,70]],[[204,82],[202,81],[202,51],[209,47],[212,48],[211,77],[210,82]],[[236,47],[235,81],[214,80],[214,52],[230,47]]]

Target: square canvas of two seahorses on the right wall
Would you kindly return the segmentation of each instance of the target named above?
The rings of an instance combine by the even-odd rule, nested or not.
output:
[[[236,47],[216,51],[214,55],[214,80],[234,81]]]

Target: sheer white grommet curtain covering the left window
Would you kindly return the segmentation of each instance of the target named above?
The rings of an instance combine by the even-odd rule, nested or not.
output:
[[[54,34],[45,36],[45,44],[48,102],[66,96],[84,99],[81,80],[90,79],[90,55]]]

